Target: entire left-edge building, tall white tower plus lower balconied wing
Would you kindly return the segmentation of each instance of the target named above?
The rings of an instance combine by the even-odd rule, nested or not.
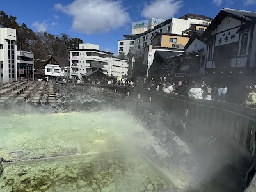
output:
[[[34,56],[17,51],[16,30],[0,28],[0,83],[19,78],[34,78]]]

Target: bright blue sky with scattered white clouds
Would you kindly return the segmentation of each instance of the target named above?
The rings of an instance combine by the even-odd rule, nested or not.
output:
[[[221,8],[256,11],[256,0],[13,0],[0,6],[33,31],[67,33],[114,54],[118,40],[131,34],[132,22],[187,13],[214,18]]]

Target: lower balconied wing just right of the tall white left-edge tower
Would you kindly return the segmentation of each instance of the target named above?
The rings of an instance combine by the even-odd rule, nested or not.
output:
[[[19,50],[17,54],[17,78],[33,79],[34,77],[34,54]]]

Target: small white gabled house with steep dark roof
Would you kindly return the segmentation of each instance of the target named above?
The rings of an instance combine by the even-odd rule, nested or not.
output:
[[[47,81],[56,79],[63,76],[68,77],[69,74],[69,60],[68,58],[61,58],[57,56],[51,56],[45,63],[45,76]]]

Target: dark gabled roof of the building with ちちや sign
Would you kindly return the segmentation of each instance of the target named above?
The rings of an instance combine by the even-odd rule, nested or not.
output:
[[[225,17],[232,17],[234,19],[240,20],[241,22],[252,22],[256,20],[256,12],[249,12],[249,11],[243,11],[243,10],[232,10],[228,8],[223,8],[220,10],[218,15],[214,18],[214,20],[211,22],[209,27],[205,29],[203,33],[203,37],[207,37],[211,35],[212,31],[217,28],[217,26],[221,23],[221,21]]]

